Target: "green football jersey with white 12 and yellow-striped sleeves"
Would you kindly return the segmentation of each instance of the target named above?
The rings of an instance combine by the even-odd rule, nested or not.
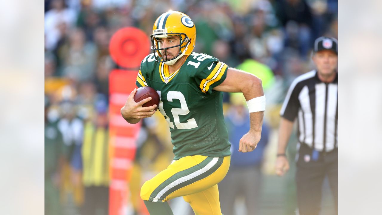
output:
[[[158,109],[170,127],[174,160],[192,155],[231,155],[223,93],[212,90],[225,80],[227,68],[210,55],[194,52],[171,75],[168,65],[155,61],[154,54],[142,60],[136,85],[158,92]]]

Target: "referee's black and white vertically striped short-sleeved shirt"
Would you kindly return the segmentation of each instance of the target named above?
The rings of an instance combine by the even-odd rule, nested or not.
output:
[[[338,73],[332,83],[324,83],[316,70],[297,77],[291,84],[280,115],[289,121],[298,117],[297,137],[317,151],[338,147]]]

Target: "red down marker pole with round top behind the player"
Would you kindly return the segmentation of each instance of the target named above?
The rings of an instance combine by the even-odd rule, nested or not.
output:
[[[118,30],[110,40],[110,55],[120,69],[109,75],[109,215],[125,215],[128,208],[128,183],[136,153],[136,139],[141,123],[129,124],[121,116],[135,81],[141,61],[149,54],[146,34],[138,28]]]

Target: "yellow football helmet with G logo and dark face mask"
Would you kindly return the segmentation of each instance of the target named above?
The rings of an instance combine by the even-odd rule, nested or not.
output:
[[[195,47],[196,28],[194,22],[184,13],[168,11],[160,15],[154,23],[151,35],[151,50],[154,52],[157,62],[165,62],[167,65],[175,64],[176,60],[183,55],[189,55]],[[159,38],[179,36],[180,44],[172,47],[161,48]],[[172,59],[163,59],[161,50],[167,51],[179,47],[179,54]]]

